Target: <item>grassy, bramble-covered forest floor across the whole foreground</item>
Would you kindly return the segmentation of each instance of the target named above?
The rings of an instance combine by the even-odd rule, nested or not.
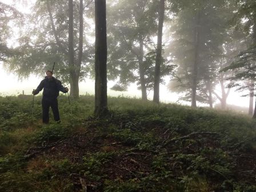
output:
[[[0,97],[0,191],[256,191],[256,122],[230,111],[109,98]]]

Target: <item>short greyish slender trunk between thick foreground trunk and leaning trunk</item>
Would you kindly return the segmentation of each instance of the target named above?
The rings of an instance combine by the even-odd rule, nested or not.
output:
[[[143,50],[143,38],[139,34],[139,81],[141,82],[141,97],[143,101],[147,101],[147,88],[145,81],[145,66],[143,63],[144,50]]]

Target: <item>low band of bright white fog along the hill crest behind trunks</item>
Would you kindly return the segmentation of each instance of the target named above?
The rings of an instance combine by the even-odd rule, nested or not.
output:
[[[19,95],[22,94],[31,94],[32,90],[35,89],[39,83],[42,81],[42,77],[36,77],[35,75],[31,75],[28,79],[19,80],[18,77],[12,73],[7,73],[2,65],[0,65],[0,81],[8,82],[1,83],[0,95]],[[167,79],[166,79],[167,81]],[[109,81],[108,87],[114,85],[114,82]],[[67,85],[68,86],[68,85]],[[81,95],[94,95],[94,80],[86,79],[79,83],[79,93]],[[62,93],[61,93],[62,94]],[[130,98],[141,98],[141,91],[137,90],[136,85],[130,86],[128,91],[113,91],[108,89],[107,94],[111,97],[130,97]],[[242,94],[238,94],[237,92],[231,91],[230,97],[227,99],[227,104],[248,107],[249,98],[240,97]],[[149,93],[149,99],[153,99],[153,91]],[[161,85],[160,89],[160,100],[164,103],[178,103],[181,105],[190,105],[189,102],[179,101],[178,94],[171,93],[167,90],[166,85]],[[201,105],[206,106],[206,105]]]

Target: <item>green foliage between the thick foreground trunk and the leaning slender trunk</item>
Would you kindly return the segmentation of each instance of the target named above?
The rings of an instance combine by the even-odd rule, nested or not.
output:
[[[135,82],[138,89],[145,86],[153,90],[156,48],[152,37],[157,35],[158,3],[152,0],[109,3],[108,78],[118,78],[111,89],[125,91]],[[174,65],[162,58],[161,83],[173,68]]]

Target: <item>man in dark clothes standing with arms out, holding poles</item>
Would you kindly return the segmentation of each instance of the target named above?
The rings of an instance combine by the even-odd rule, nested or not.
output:
[[[32,91],[33,95],[37,95],[43,89],[42,98],[42,109],[43,109],[43,123],[49,123],[49,109],[53,111],[54,120],[59,123],[61,119],[59,118],[58,100],[59,91],[67,93],[69,89],[63,87],[61,81],[53,77],[53,72],[46,71],[46,77],[38,85],[37,89]]]

